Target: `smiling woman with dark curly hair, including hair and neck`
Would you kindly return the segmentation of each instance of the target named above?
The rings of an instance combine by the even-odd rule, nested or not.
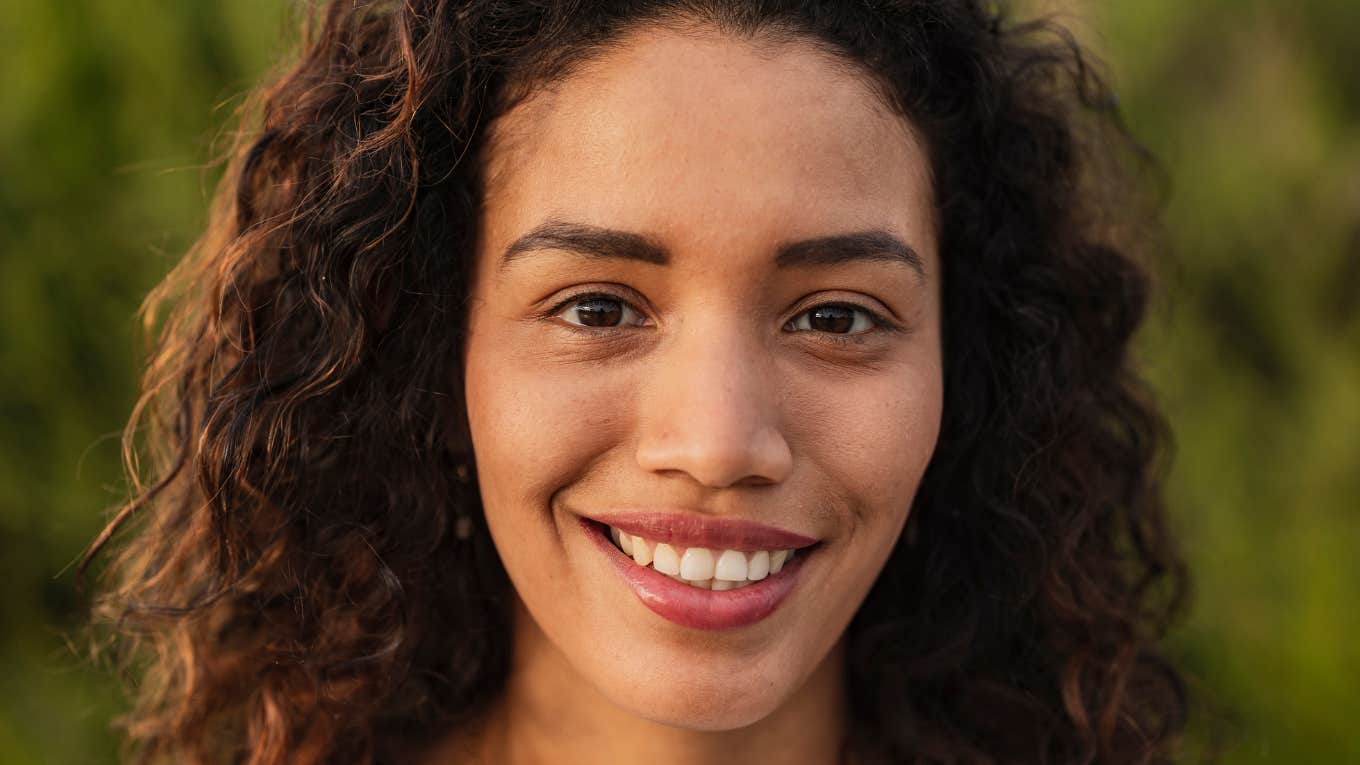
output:
[[[997,14],[330,3],[148,301],[135,750],[1166,761],[1133,144]]]

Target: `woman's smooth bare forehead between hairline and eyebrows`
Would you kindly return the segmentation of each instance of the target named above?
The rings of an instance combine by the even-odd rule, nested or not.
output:
[[[677,250],[864,227],[934,249],[911,125],[808,42],[634,31],[498,118],[491,139],[487,242],[560,218]]]

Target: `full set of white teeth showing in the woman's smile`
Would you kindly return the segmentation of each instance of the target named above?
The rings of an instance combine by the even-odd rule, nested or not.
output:
[[[718,592],[740,589],[770,574],[779,573],[790,559],[793,550],[710,550],[707,547],[680,547],[666,543],[653,544],[641,536],[609,527],[609,538],[624,555],[639,566],[653,569],[699,589]]]

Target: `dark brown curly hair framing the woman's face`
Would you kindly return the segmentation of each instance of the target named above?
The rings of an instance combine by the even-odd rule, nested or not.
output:
[[[1070,34],[979,0],[336,0],[141,309],[133,490],[82,562],[135,682],[129,754],[388,762],[499,693],[510,583],[487,534],[453,534],[483,523],[458,348],[486,125],[687,19],[835,53],[928,144],[944,422],[849,626],[857,755],[1175,753],[1187,691],[1157,644],[1189,577],[1129,351],[1151,275],[1119,229],[1148,163]]]

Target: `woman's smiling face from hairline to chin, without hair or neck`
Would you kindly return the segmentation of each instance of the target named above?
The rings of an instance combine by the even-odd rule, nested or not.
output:
[[[760,720],[835,656],[934,449],[922,146],[811,45],[656,30],[492,129],[465,391],[518,640],[579,698]]]

